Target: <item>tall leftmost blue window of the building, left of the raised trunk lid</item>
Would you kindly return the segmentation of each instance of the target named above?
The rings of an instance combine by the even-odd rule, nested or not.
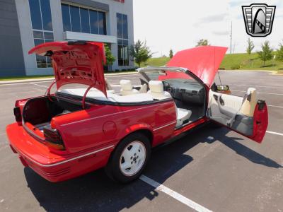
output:
[[[35,46],[54,41],[50,0],[29,0],[29,4]],[[36,62],[37,68],[52,67],[50,57],[36,55]]]

